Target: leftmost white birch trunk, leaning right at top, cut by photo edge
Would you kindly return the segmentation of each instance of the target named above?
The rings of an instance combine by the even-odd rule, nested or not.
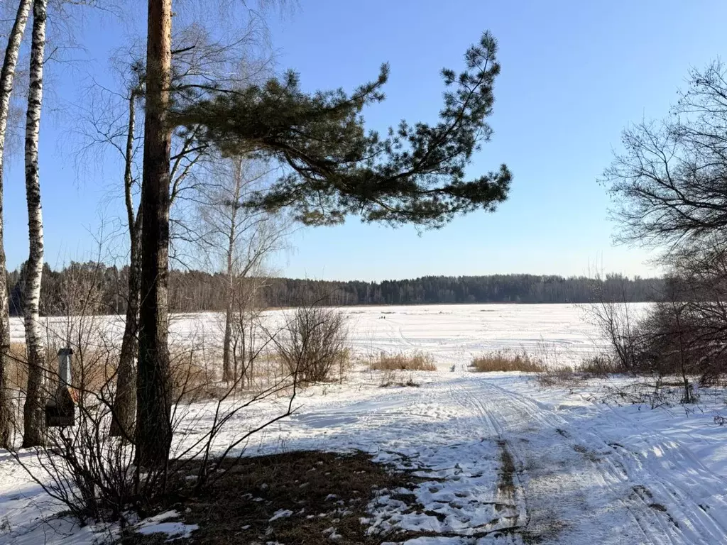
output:
[[[9,396],[7,371],[11,362],[10,350],[10,307],[7,298],[7,265],[4,243],[3,211],[3,165],[5,158],[5,134],[10,110],[10,96],[15,80],[17,57],[23,41],[32,0],[20,0],[15,23],[7,39],[5,58],[0,72],[0,448],[8,448],[12,436],[12,403]]]

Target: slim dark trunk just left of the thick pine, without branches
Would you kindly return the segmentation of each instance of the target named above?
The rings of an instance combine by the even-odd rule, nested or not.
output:
[[[124,336],[121,339],[119,369],[116,378],[116,396],[113,400],[113,419],[110,435],[132,439],[134,418],[136,416],[136,366],[135,358],[139,350],[137,335],[139,333],[139,304],[141,300],[141,216],[134,214],[132,199],[132,161],[134,155],[134,128],[136,125],[137,89],[129,96],[129,133],[126,137],[124,196],[126,198],[126,221],[129,224],[129,280],[128,299],[126,301],[126,323]],[[136,217],[134,217],[134,215]]]

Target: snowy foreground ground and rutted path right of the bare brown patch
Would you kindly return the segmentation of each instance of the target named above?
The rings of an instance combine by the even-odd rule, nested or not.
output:
[[[727,467],[697,459],[685,431],[727,439],[707,409],[612,407],[513,374],[348,394],[306,400],[265,443],[364,448],[419,469],[424,509],[374,506],[375,528],[421,534],[408,545],[727,543]]]

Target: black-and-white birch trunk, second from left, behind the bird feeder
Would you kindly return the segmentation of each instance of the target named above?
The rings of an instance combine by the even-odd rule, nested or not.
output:
[[[43,104],[47,0],[33,0],[28,113],[25,118],[25,194],[28,201],[28,275],[25,279],[25,344],[28,358],[28,390],[23,407],[23,447],[42,445],[45,435],[46,370],[43,334],[39,321],[43,275],[43,214],[38,168],[38,139]]]

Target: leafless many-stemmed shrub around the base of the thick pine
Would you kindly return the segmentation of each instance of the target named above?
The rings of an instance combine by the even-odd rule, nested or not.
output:
[[[113,360],[118,358],[111,346],[103,350],[97,345],[87,355],[82,352],[81,348],[74,353],[76,367],[113,368]],[[294,373],[254,395],[238,396],[236,384],[209,380],[204,368],[195,365],[194,350],[177,353],[180,360],[174,368],[170,424],[174,446],[167,464],[141,467],[134,437],[123,429],[121,437],[110,435],[114,374],[100,389],[96,383],[89,389],[82,381],[74,381],[74,425],[47,428],[46,445],[35,451],[35,461],[12,451],[28,475],[79,521],[114,521],[123,527],[131,522],[129,517],[148,516],[180,494],[201,491],[221,477],[222,461],[229,467],[243,455],[249,437],[292,412],[297,385]],[[214,396],[209,396],[213,388]],[[288,403],[278,415],[241,425],[246,408],[280,395],[288,397]],[[196,403],[193,411],[191,402]]]

